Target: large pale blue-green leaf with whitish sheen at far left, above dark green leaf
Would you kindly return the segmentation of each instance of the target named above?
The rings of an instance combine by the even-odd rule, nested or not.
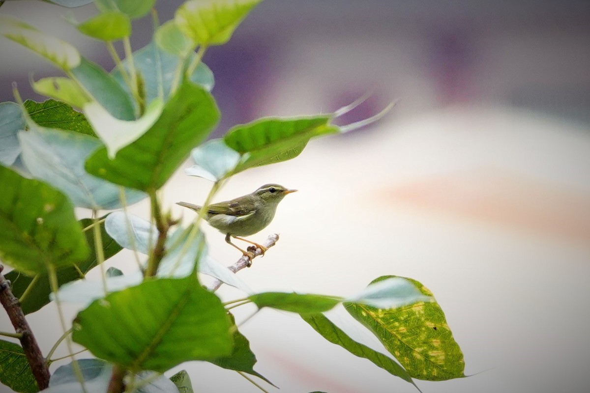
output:
[[[102,144],[97,138],[69,131],[30,125],[29,131],[18,135],[22,158],[31,174],[47,181],[70,197],[77,207],[111,210],[122,207],[120,188],[84,170],[84,163]],[[128,204],[145,199],[146,194],[124,189]]]

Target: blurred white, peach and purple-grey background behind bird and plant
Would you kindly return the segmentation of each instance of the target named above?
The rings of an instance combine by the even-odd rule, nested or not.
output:
[[[159,1],[160,21],[180,4]],[[113,67],[102,44],[61,19],[73,12],[83,21],[93,5],[68,11],[7,1],[0,12]],[[152,31],[149,17],[137,21],[133,47],[147,44]],[[17,45],[0,45],[0,101],[13,99],[13,81],[23,97],[41,100],[28,86],[30,72],[38,79],[57,71]],[[222,111],[214,136],[266,115],[329,113],[369,90],[372,97],[340,124],[399,99],[382,121],[312,141],[296,159],[246,171],[222,189],[217,200],[264,183],[300,190],[252,237],[281,234],[239,273],[248,285],[346,296],[381,275],[411,277],[445,311],[466,374],[481,372],[417,381],[425,393],[587,391],[590,2],[267,0],[204,61]],[[163,189],[165,206],[186,222],[194,213],[174,203],[202,203],[210,187],[185,176],[191,165]],[[132,211],[149,217],[146,203]],[[235,262],[224,236],[204,230],[212,255]],[[135,265],[125,251],[108,263],[124,271]],[[29,316],[42,329],[44,352],[61,335],[55,318],[54,305]],[[332,318],[349,322],[338,310]],[[0,329],[10,329],[7,319]],[[296,315],[263,310],[241,331],[257,371],[283,392],[415,392],[324,341]],[[362,329],[356,333],[383,350]],[[195,391],[259,391],[211,364],[181,368]]]

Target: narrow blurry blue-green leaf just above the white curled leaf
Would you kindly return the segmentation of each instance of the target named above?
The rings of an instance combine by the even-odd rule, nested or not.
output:
[[[80,65],[70,72],[84,87],[89,97],[113,117],[119,120],[135,120],[135,109],[130,95],[99,65],[82,58]]]

